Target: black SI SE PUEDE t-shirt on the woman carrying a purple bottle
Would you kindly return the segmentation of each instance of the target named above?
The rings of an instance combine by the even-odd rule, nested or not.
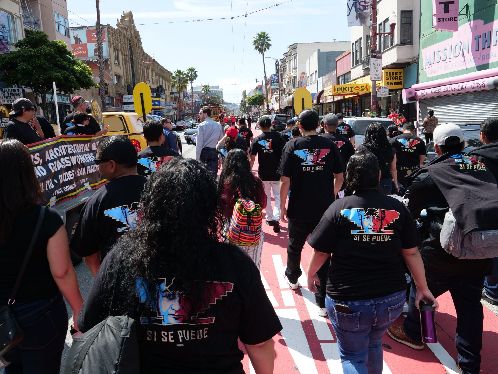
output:
[[[403,203],[371,190],[336,200],[308,242],[333,253],[327,295],[349,301],[405,290],[401,248],[418,246],[420,237]]]

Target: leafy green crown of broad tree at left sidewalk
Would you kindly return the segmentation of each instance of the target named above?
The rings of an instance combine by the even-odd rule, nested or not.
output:
[[[84,62],[75,60],[74,54],[61,40],[49,40],[42,31],[24,29],[26,37],[14,44],[15,50],[0,54],[1,70],[13,70],[2,76],[3,83],[31,87],[42,98],[53,92],[53,84],[60,92],[72,94],[75,90],[96,87],[92,80],[92,69]]]

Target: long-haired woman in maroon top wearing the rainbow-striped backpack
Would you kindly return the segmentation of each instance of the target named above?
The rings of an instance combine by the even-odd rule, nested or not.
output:
[[[249,159],[246,153],[240,149],[233,149],[227,153],[218,184],[221,189],[223,214],[227,227],[232,219],[236,201],[240,197],[249,198],[259,204],[261,208],[266,206],[267,196],[263,182],[252,174]],[[263,249],[263,232],[262,230],[259,231],[260,239],[254,245],[234,242],[249,254],[258,269],[261,264],[261,252]]]

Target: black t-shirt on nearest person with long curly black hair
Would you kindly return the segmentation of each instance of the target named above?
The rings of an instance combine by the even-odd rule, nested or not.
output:
[[[134,290],[116,287],[111,315],[121,315],[121,308],[130,293],[136,296],[132,318],[136,322],[140,344],[142,373],[203,373],[243,374],[242,343],[255,345],[265,342],[281,329],[278,317],[266,296],[258,269],[249,256],[235,245],[218,243],[226,266],[224,275],[215,276],[211,302],[194,320],[186,313],[188,303],[181,298],[184,291],[181,279],[168,278],[166,270],[159,271],[160,283],[150,297],[146,283],[138,279]],[[133,248],[126,248],[133,250]],[[83,304],[78,326],[86,332],[109,314],[109,301],[120,272],[110,270],[119,261],[115,247],[102,263],[101,270]],[[217,251],[217,253],[220,253]],[[147,289],[148,290],[148,289]],[[128,304],[126,304],[128,305]],[[143,311],[152,307],[151,321]],[[147,322],[150,322],[147,324]]]

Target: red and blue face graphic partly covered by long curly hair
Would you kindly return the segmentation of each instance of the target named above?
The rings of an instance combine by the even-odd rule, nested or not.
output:
[[[174,278],[167,284],[165,278],[159,278],[163,282],[156,286],[155,292],[151,295],[147,281],[137,279],[135,281],[135,292],[139,302],[156,312],[155,316],[140,318],[142,324],[152,323],[154,325],[184,324],[184,325],[205,325],[215,322],[215,317],[199,317],[206,313],[209,307],[216,304],[224,296],[228,296],[234,289],[234,284],[230,282],[206,282],[205,292],[207,294],[201,311],[193,317],[190,315],[190,304],[183,293],[183,285],[180,279]],[[154,315],[154,313],[152,313]]]

